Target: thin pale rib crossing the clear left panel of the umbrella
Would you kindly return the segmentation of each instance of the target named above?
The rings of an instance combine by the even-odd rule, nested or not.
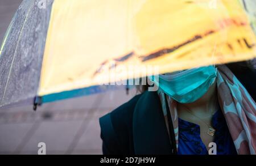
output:
[[[5,85],[5,91],[3,91],[3,97],[1,99],[0,106],[2,104],[3,99],[5,98],[5,93],[6,93],[6,90],[7,90],[8,83],[9,83],[9,79],[10,79],[10,75],[11,75],[11,69],[13,69],[13,63],[14,63],[14,59],[15,59],[15,56],[16,56],[17,48],[18,48],[18,45],[19,45],[20,37],[22,35],[24,25],[27,22],[27,18],[28,18],[28,15],[30,14],[32,6],[33,6],[33,4],[30,6],[30,8],[29,8],[29,10],[27,12],[26,18],[24,20],[24,23],[22,25],[22,29],[21,29],[20,34],[19,34],[18,42],[17,42],[16,47],[15,47],[15,52],[14,52],[13,60],[11,61],[11,67],[10,67],[10,71],[9,71],[9,74],[8,74],[8,77],[7,77],[7,82],[6,82],[6,85]]]

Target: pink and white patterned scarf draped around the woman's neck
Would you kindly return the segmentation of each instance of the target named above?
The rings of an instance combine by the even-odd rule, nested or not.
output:
[[[217,71],[218,102],[228,125],[237,154],[254,154],[256,152],[256,104],[245,87],[225,65],[218,66]],[[167,110],[164,102],[164,92],[158,90],[164,119],[167,121]],[[179,126],[177,103],[171,97],[167,97],[172,123],[178,148]],[[168,129],[169,130],[169,129]]]

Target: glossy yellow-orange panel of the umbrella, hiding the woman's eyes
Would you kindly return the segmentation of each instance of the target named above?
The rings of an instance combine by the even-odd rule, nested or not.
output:
[[[38,95],[96,86],[113,64],[166,73],[243,61],[256,57],[255,42],[239,1],[55,0]]]

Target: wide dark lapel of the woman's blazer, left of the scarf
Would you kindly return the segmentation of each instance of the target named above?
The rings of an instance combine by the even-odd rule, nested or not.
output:
[[[144,92],[133,115],[135,154],[171,154],[162,107],[156,92]]]

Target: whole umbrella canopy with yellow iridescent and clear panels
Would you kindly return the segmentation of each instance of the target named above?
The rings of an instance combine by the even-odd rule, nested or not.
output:
[[[156,0],[24,0],[0,50],[0,107],[108,90],[98,86],[256,57],[245,3]],[[124,69],[125,68],[125,69]],[[108,74],[106,74],[108,73]],[[151,73],[152,74],[152,73]]]

